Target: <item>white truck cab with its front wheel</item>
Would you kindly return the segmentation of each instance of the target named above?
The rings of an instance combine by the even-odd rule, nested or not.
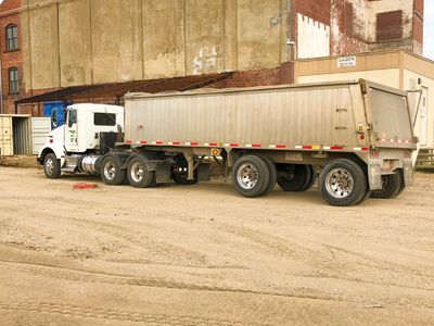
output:
[[[94,168],[88,171],[90,158],[92,164],[97,164],[105,149],[114,147],[123,129],[123,106],[71,105],[66,110],[66,123],[49,134],[47,143],[39,151],[38,162],[44,165],[48,177],[58,177],[62,171],[95,173]]]

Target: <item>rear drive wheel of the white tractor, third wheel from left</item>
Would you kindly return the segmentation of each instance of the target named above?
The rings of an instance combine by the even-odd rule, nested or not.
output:
[[[149,171],[148,159],[137,155],[129,160],[127,176],[129,184],[135,188],[149,188],[155,186],[155,171]]]

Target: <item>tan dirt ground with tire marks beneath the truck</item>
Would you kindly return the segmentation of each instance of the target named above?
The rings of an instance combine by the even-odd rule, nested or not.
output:
[[[0,167],[0,324],[432,325],[433,213],[433,173],[333,208]]]

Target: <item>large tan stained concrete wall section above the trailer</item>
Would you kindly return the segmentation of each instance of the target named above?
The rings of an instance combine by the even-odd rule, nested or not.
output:
[[[279,67],[286,0],[25,0],[27,89]]]

